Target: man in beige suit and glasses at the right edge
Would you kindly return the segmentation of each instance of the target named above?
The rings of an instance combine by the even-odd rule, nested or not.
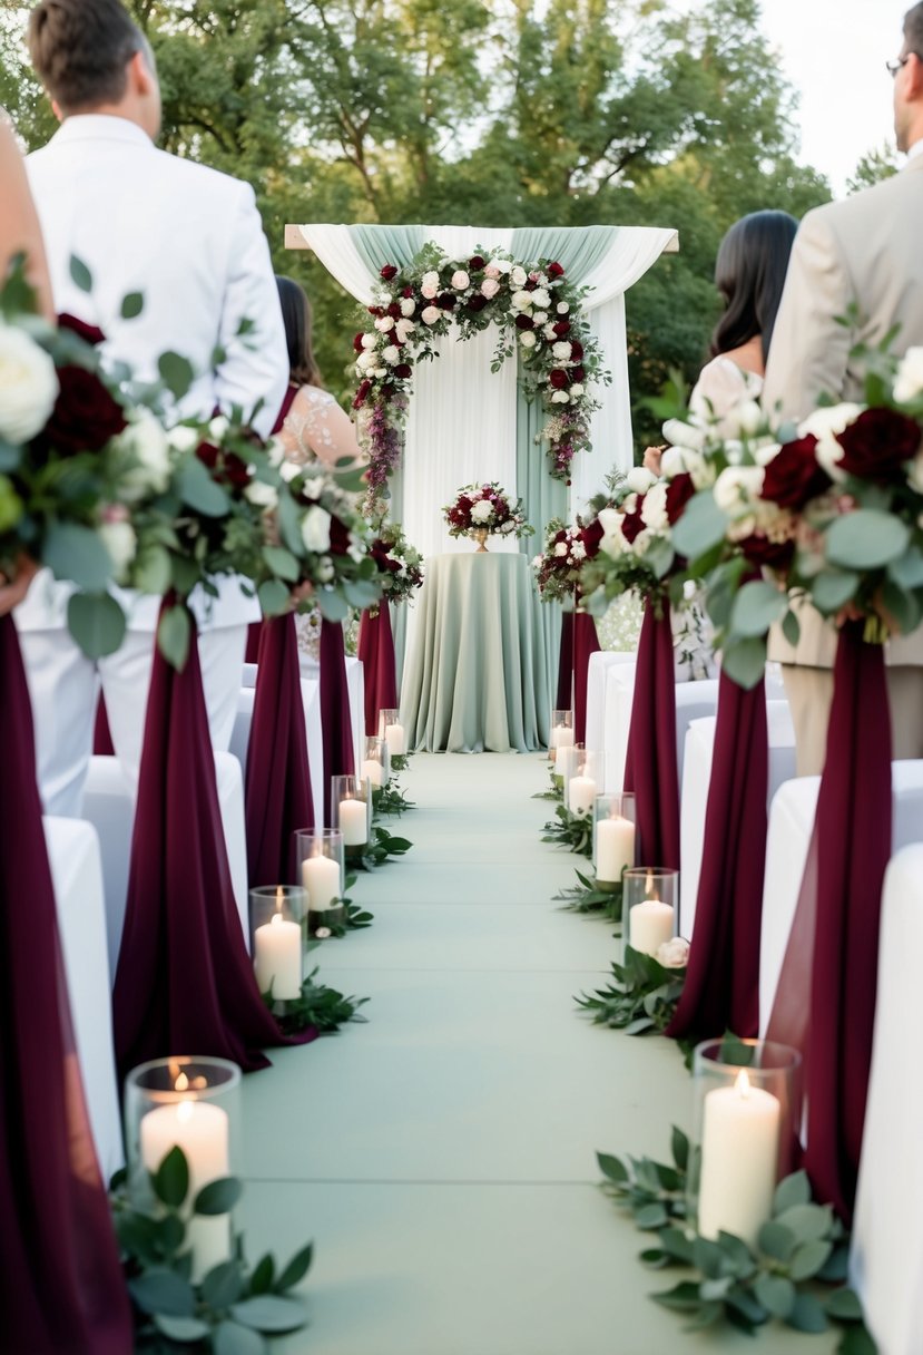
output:
[[[907,164],[892,179],[809,211],[794,241],[766,367],[763,406],[804,419],[821,394],[861,400],[857,343],[878,344],[899,327],[896,352],[923,344],[923,3],[904,16],[895,81],[895,131]],[[853,327],[838,324],[857,308]],[[770,659],[785,668],[798,775],[819,772],[827,747],[836,631],[803,608],[797,646],[781,634]],[[923,757],[923,627],[888,645],[896,757]]]

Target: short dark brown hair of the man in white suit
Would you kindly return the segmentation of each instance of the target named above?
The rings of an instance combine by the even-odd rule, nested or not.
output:
[[[28,16],[28,51],[65,115],[118,103],[134,54],[150,58],[148,41],[119,0],[41,0]]]

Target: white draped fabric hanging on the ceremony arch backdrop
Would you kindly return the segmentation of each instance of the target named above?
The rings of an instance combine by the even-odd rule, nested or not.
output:
[[[467,257],[476,247],[510,248],[512,230],[478,226],[422,226],[426,240],[449,257]],[[309,224],[299,226],[306,244],[328,272],[359,302],[368,305],[375,275],[367,268],[349,226]],[[674,249],[677,232],[625,226],[604,260],[586,278],[591,293],[585,310],[600,339],[613,382],[598,394],[602,408],[593,419],[594,451],[574,462],[571,503],[579,511],[602,488],[606,473],[632,465],[631,397],[625,340],[625,291],[666,249]],[[490,358],[495,331],[468,343],[445,339],[433,363],[421,363],[414,375],[414,397],[407,419],[402,473],[401,518],[407,535],[425,556],[470,549],[445,531],[440,508],[453,492],[472,480],[498,480],[516,493],[516,366],[503,363],[495,374]],[[539,454],[539,449],[536,449]],[[541,530],[544,523],[533,524]],[[491,542],[493,549],[516,549],[512,542]]]

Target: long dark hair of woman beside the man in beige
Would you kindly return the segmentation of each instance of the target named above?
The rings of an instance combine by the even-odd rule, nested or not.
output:
[[[759,335],[766,359],[797,229],[788,211],[751,211],[725,234],[715,263],[724,314],[712,335],[712,358]]]

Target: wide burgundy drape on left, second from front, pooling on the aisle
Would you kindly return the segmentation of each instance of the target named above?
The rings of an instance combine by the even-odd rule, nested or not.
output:
[[[189,623],[185,668],[176,672],[156,650],[148,698],[112,995],[122,1076],[189,1050],[250,1072],[268,1065],[265,1046],[290,1043],[260,997],[244,942],[191,615]]]

